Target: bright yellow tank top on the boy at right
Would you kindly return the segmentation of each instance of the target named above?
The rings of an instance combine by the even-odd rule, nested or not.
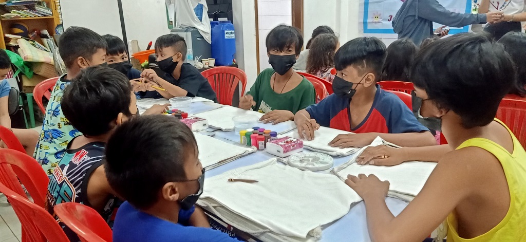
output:
[[[513,154],[497,143],[484,138],[466,140],[457,149],[474,146],[480,147],[499,159],[510,189],[510,208],[500,223],[487,233],[472,239],[463,239],[457,233],[457,219],[451,213],[448,216],[448,242],[479,242],[479,241],[526,241],[526,152],[511,130],[500,120],[502,126],[508,129],[513,139]]]

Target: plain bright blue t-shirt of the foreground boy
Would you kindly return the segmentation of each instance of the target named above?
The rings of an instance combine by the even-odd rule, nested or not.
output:
[[[114,242],[133,241],[185,241],[185,242],[231,242],[239,241],[211,228],[184,226],[194,213],[194,207],[179,211],[179,223],[174,224],[143,213],[125,201],[117,211],[113,225]]]

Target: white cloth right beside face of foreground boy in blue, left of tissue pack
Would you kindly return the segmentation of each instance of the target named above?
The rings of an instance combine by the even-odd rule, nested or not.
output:
[[[199,160],[203,167],[208,170],[256,152],[256,147],[231,145],[210,136],[197,133],[194,133],[194,135],[199,148]]]

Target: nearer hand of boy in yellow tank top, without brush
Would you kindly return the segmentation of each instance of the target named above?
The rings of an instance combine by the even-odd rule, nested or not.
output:
[[[348,175],[345,184],[355,190],[363,200],[371,198],[383,200],[387,196],[387,191],[389,191],[389,182],[387,180],[382,182],[372,174],[369,176],[360,174],[358,177]]]

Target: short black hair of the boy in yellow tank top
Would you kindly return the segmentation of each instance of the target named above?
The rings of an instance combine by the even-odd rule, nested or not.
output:
[[[414,63],[414,86],[426,90],[439,108],[458,114],[466,129],[491,123],[515,82],[510,55],[488,34],[440,39],[423,49]]]

